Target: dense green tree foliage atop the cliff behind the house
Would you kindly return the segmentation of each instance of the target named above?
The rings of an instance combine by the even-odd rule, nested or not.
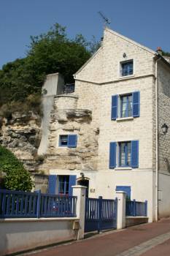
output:
[[[97,47],[94,39],[87,42],[81,34],[69,39],[66,28],[58,23],[47,33],[31,37],[26,58],[9,62],[0,70],[0,107],[12,102],[27,105],[30,94],[41,94],[42,83],[50,73],[60,72],[66,83],[72,83],[74,72]]]

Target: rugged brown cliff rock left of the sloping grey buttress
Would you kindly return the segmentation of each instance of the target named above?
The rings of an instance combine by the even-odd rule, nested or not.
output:
[[[40,117],[33,113],[13,113],[12,119],[0,121],[0,143],[9,148],[26,168],[34,171],[39,165],[36,157],[41,140]]]

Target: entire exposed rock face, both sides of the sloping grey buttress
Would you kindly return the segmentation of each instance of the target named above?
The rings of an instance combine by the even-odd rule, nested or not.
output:
[[[32,174],[48,175],[51,169],[97,170],[98,125],[93,121],[92,111],[77,109],[77,99],[68,94],[55,97],[47,123],[48,143],[44,155],[37,154],[43,137],[41,119],[31,112],[27,116],[14,113],[11,120],[0,120],[0,143],[21,159]],[[70,134],[77,135],[77,147],[59,146],[59,136]],[[38,178],[36,176],[35,181]],[[41,178],[35,183],[38,187],[40,183],[47,187]]]

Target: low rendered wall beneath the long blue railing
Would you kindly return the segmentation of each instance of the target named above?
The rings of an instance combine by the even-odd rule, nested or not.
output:
[[[0,219],[0,255],[77,239],[74,218]]]

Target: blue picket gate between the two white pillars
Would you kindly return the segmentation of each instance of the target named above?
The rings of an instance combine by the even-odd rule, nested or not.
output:
[[[85,199],[85,232],[117,227],[117,199]]]

